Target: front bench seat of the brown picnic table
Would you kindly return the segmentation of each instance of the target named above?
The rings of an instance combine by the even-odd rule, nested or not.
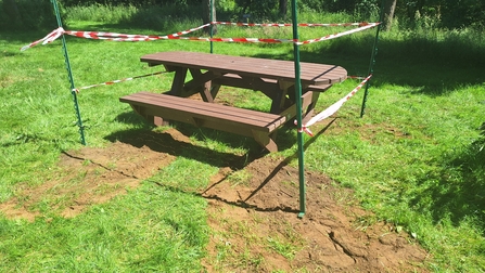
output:
[[[276,115],[150,92],[126,95],[119,101],[130,104],[136,113],[155,125],[156,117],[161,117],[251,136],[269,152],[278,151],[273,132],[295,113],[295,109],[289,108]]]

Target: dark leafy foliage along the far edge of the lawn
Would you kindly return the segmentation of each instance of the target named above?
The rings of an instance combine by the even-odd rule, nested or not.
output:
[[[178,16],[188,8],[200,8],[203,0],[58,0],[65,9],[73,6],[136,6],[143,9],[177,6],[171,16]],[[217,12],[225,17],[242,20],[244,14],[251,21],[278,21],[281,18],[279,0],[213,0]],[[286,3],[291,0],[286,0]],[[384,1],[392,0],[299,0],[302,12],[345,12],[356,20],[375,18]],[[283,1],[284,2],[284,1]],[[201,17],[199,13],[194,16]],[[0,29],[41,29],[54,25],[50,0],[0,0]],[[398,0],[395,17],[399,25],[416,27],[463,28],[485,27],[485,1],[482,0]],[[149,21],[157,21],[149,18]]]

